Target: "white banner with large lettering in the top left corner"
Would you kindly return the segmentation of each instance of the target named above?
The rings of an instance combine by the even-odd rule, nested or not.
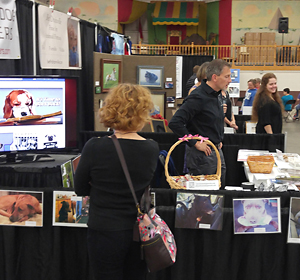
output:
[[[0,59],[20,59],[20,42],[14,0],[0,2]]]

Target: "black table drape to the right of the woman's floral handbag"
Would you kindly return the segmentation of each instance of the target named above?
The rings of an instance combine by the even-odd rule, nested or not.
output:
[[[212,231],[174,228],[176,194],[180,191],[154,190],[157,212],[170,225],[178,254],[172,267],[152,276],[151,280],[299,279],[299,245],[287,244],[290,197],[299,197],[299,192],[198,191],[225,196],[223,229]],[[280,197],[281,233],[234,235],[232,200],[244,197]]]

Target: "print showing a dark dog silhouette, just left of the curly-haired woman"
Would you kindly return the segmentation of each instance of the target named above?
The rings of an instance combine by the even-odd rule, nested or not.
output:
[[[87,227],[90,197],[72,191],[53,192],[53,226]]]

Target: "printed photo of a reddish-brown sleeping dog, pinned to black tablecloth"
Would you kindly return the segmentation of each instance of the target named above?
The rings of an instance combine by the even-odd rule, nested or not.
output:
[[[0,190],[0,225],[43,226],[43,192]]]

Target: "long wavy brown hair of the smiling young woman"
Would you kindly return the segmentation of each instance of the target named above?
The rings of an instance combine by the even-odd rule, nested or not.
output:
[[[261,85],[260,88],[257,90],[256,95],[254,97],[253,106],[252,106],[252,120],[258,121],[258,110],[263,107],[266,103],[271,101],[271,97],[268,94],[267,91],[267,84],[269,83],[270,79],[276,79],[275,74],[273,73],[266,73],[263,75],[261,79]],[[281,111],[284,111],[283,104],[281,97],[278,93],[278,90],[276,89],[276,92],[272,93],[272,97],[274,100],[280,105]]]

